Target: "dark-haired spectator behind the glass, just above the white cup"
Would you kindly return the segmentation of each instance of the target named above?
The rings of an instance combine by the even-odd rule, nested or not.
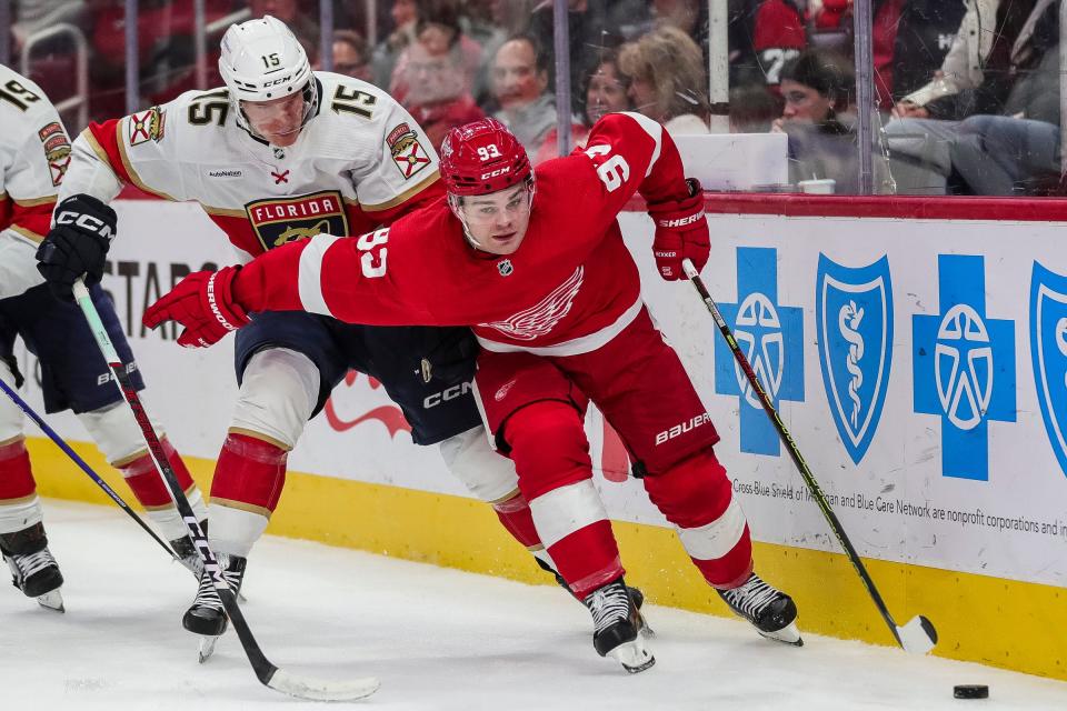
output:
[[[790,182],[829,178],[836,183],[836,192],[858,192],[858,151],[851,118],[855,86],[849,61],[828,50],[805,50],[782,67],[785,108],[771,130],[789,137]]]

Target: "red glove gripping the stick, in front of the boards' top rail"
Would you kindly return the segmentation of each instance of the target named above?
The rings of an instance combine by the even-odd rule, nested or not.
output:
[[[704,217],[704,189],[696,178],[687,178],[689,196],[681,200],[648,206],[656,223],[652,256],[659,276],[667,281],[686,279],[682,259],[691,259],[697,271],[704,269],[711,251],[708,221]]]

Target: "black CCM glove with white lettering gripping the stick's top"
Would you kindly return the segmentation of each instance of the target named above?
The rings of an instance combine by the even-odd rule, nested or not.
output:
[[[56,227],[37,249],[37,270],[58,299],[73,301],[71,289],[82,274],[86,286],[100,282],[117,221],[114,210],[92,196],[71,196],[59,203]]]

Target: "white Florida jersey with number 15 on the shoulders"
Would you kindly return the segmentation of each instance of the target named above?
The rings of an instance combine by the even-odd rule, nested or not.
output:
[[[93,123],[74,141],[61,198],[108,202],[131,183],[193,200],[248,261],[320,232],[368,232],[443,194],[433,147],[388,93],[341,74],[315,79],[318,116],[288,148],[240,128],[226,89]]]

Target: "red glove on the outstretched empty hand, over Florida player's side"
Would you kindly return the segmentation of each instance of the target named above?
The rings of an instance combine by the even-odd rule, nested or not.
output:
[[[212,346],[230,331],[248,326],[251,320],[235,300],[233,278],[240,267],[219,271],[197,271],[148,307],[141,322],[154,329],[163,321],[177,321],[186,329],[178,344],[186,348]]]

